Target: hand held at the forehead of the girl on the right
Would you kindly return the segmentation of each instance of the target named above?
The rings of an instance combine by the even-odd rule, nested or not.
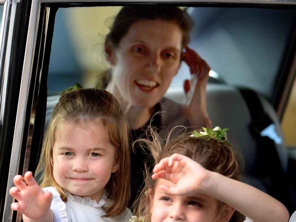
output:
[[[202,184],[207,179],[208,170],[199,163],[181,154],[166,157],[153,169],[153,179],[163,178],[176,186],[160,185],[168,194],[190,195],[202,191]]]

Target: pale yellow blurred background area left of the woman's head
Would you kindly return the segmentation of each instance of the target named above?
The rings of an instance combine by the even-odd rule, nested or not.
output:
[[[79,65],[83,68],[83,85],[93,87],[110,66],[104,53],[105,36],[122,7],[73,7],[65,10],[69,36]]]

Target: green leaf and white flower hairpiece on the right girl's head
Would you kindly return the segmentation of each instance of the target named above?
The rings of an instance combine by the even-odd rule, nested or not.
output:
[[[208,139],[218,139],[220,141],[226,142],[227,141],[227,134],[226,131],[229,130],[229,128],[224,128],[221,130],[219,126],[216,126],[215,128],[206,128],[202,127],[204,131],[197,132],[196,130],[193,131],[192,135],[194,137],[207,137]]]

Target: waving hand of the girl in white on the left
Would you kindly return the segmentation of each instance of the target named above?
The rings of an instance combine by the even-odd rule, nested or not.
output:
[[[12,203],[11,209],[20,211],[30,219],[39,220],[49,211],[52,193],[40,188],[32,172],[26,172],[24,178],[27,185],[22,181],[21,175],[13,178],[15,186],[9,189],[9,194],[18,202]]]

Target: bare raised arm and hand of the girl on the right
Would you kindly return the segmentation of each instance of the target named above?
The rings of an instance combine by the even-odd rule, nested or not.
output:
[[[289,220],[288,210],[278,200],[248,184],[206,170],[189,157],[173,154],[155,165],[153,172],[153,179],[163,178],[176,184],[160,185],[166,193],[207,194],[256,222]]]

